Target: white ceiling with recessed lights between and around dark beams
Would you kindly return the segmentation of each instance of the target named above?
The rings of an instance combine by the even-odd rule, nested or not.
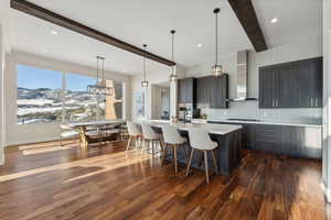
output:
[[[85,25],[170,58],[170,30],[175,29],[174,62],[184,67],[214,59],[214,14],[220,13],[220,56],[253,46],[227,0],[30,0]],[[310,35],[321,35],[321,0],[253,0],[268,46]],[[10,10],[11,46],[14,50],[95,66],[96,55],[106,57],[108,70],[140,74],[142,57]],[[270,23],[278,18],[279,22]],[[57,35],[51,34],[56,31]],[[202,44],[202,47],[197,47]],[[149,62],[149,72],[169,67]]]

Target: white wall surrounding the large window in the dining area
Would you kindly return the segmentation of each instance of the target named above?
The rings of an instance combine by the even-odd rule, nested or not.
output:
[[[35,66],[39,68],[58,70],[62,73],[76,73],[86,76],[95,76],[95,68],[56,61],[22,52],[6,54],[7,66],[4,73],[4,97],[6,97],[6,144],[15,145],[21,143],[33,143],[58,139],[58,123],[17,124],[17,64]],[[117,73],[105,73],[105,78],[124,81],[125,87],[130,90],[130,77]],[[130,92],[125,92],[125,116],[130,114]]]

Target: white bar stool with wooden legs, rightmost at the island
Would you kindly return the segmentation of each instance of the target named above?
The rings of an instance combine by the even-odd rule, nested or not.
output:
[[[193,153],[195,150],[203,152],[204,155],[204,168],[205,168],[205,177],[206,177],[206,183],[210,183],[210,175],[209,175],[209,160],[207,160],[207,152],[212,152],[212,158],[213,158],[213,164],[215,168],[215,173],[218,175],[218,167],[216,163],[216,157],[214,154],[214,148],[217,147],[217,143],[212,141],[210,138],[210,134],[202,130],[202,129],[190,129],[189,130],[189,136],[190,136],[190,143],[191,143],[191,155],[188,164],[188,170],[186,170],[186,176],[189,175],[191,163],[192,163],[192,157]]]

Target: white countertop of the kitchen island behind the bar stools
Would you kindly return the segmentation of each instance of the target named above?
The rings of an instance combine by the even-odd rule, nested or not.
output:
[[[188,131],[189,129],[202,129],[207,131],[210,134],[221,134],[225,135],[233,131],[239,130],[242,125],[235,124],[213,124],[213,123],[172,123],[170,121],[162,121],[162,120],[151,120],[148,122],[152,127],[161,128],[164,123],[169,123],[171,125],[177,127],[178,130]]]

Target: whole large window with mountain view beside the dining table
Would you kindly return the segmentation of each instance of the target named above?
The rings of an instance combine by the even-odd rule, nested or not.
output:
[[[87,92],[96,78],[18,65],[18,123],[122,118],[122,82],[105,80],[111,96]],[[63,80],[64,79],[64,80]]]

